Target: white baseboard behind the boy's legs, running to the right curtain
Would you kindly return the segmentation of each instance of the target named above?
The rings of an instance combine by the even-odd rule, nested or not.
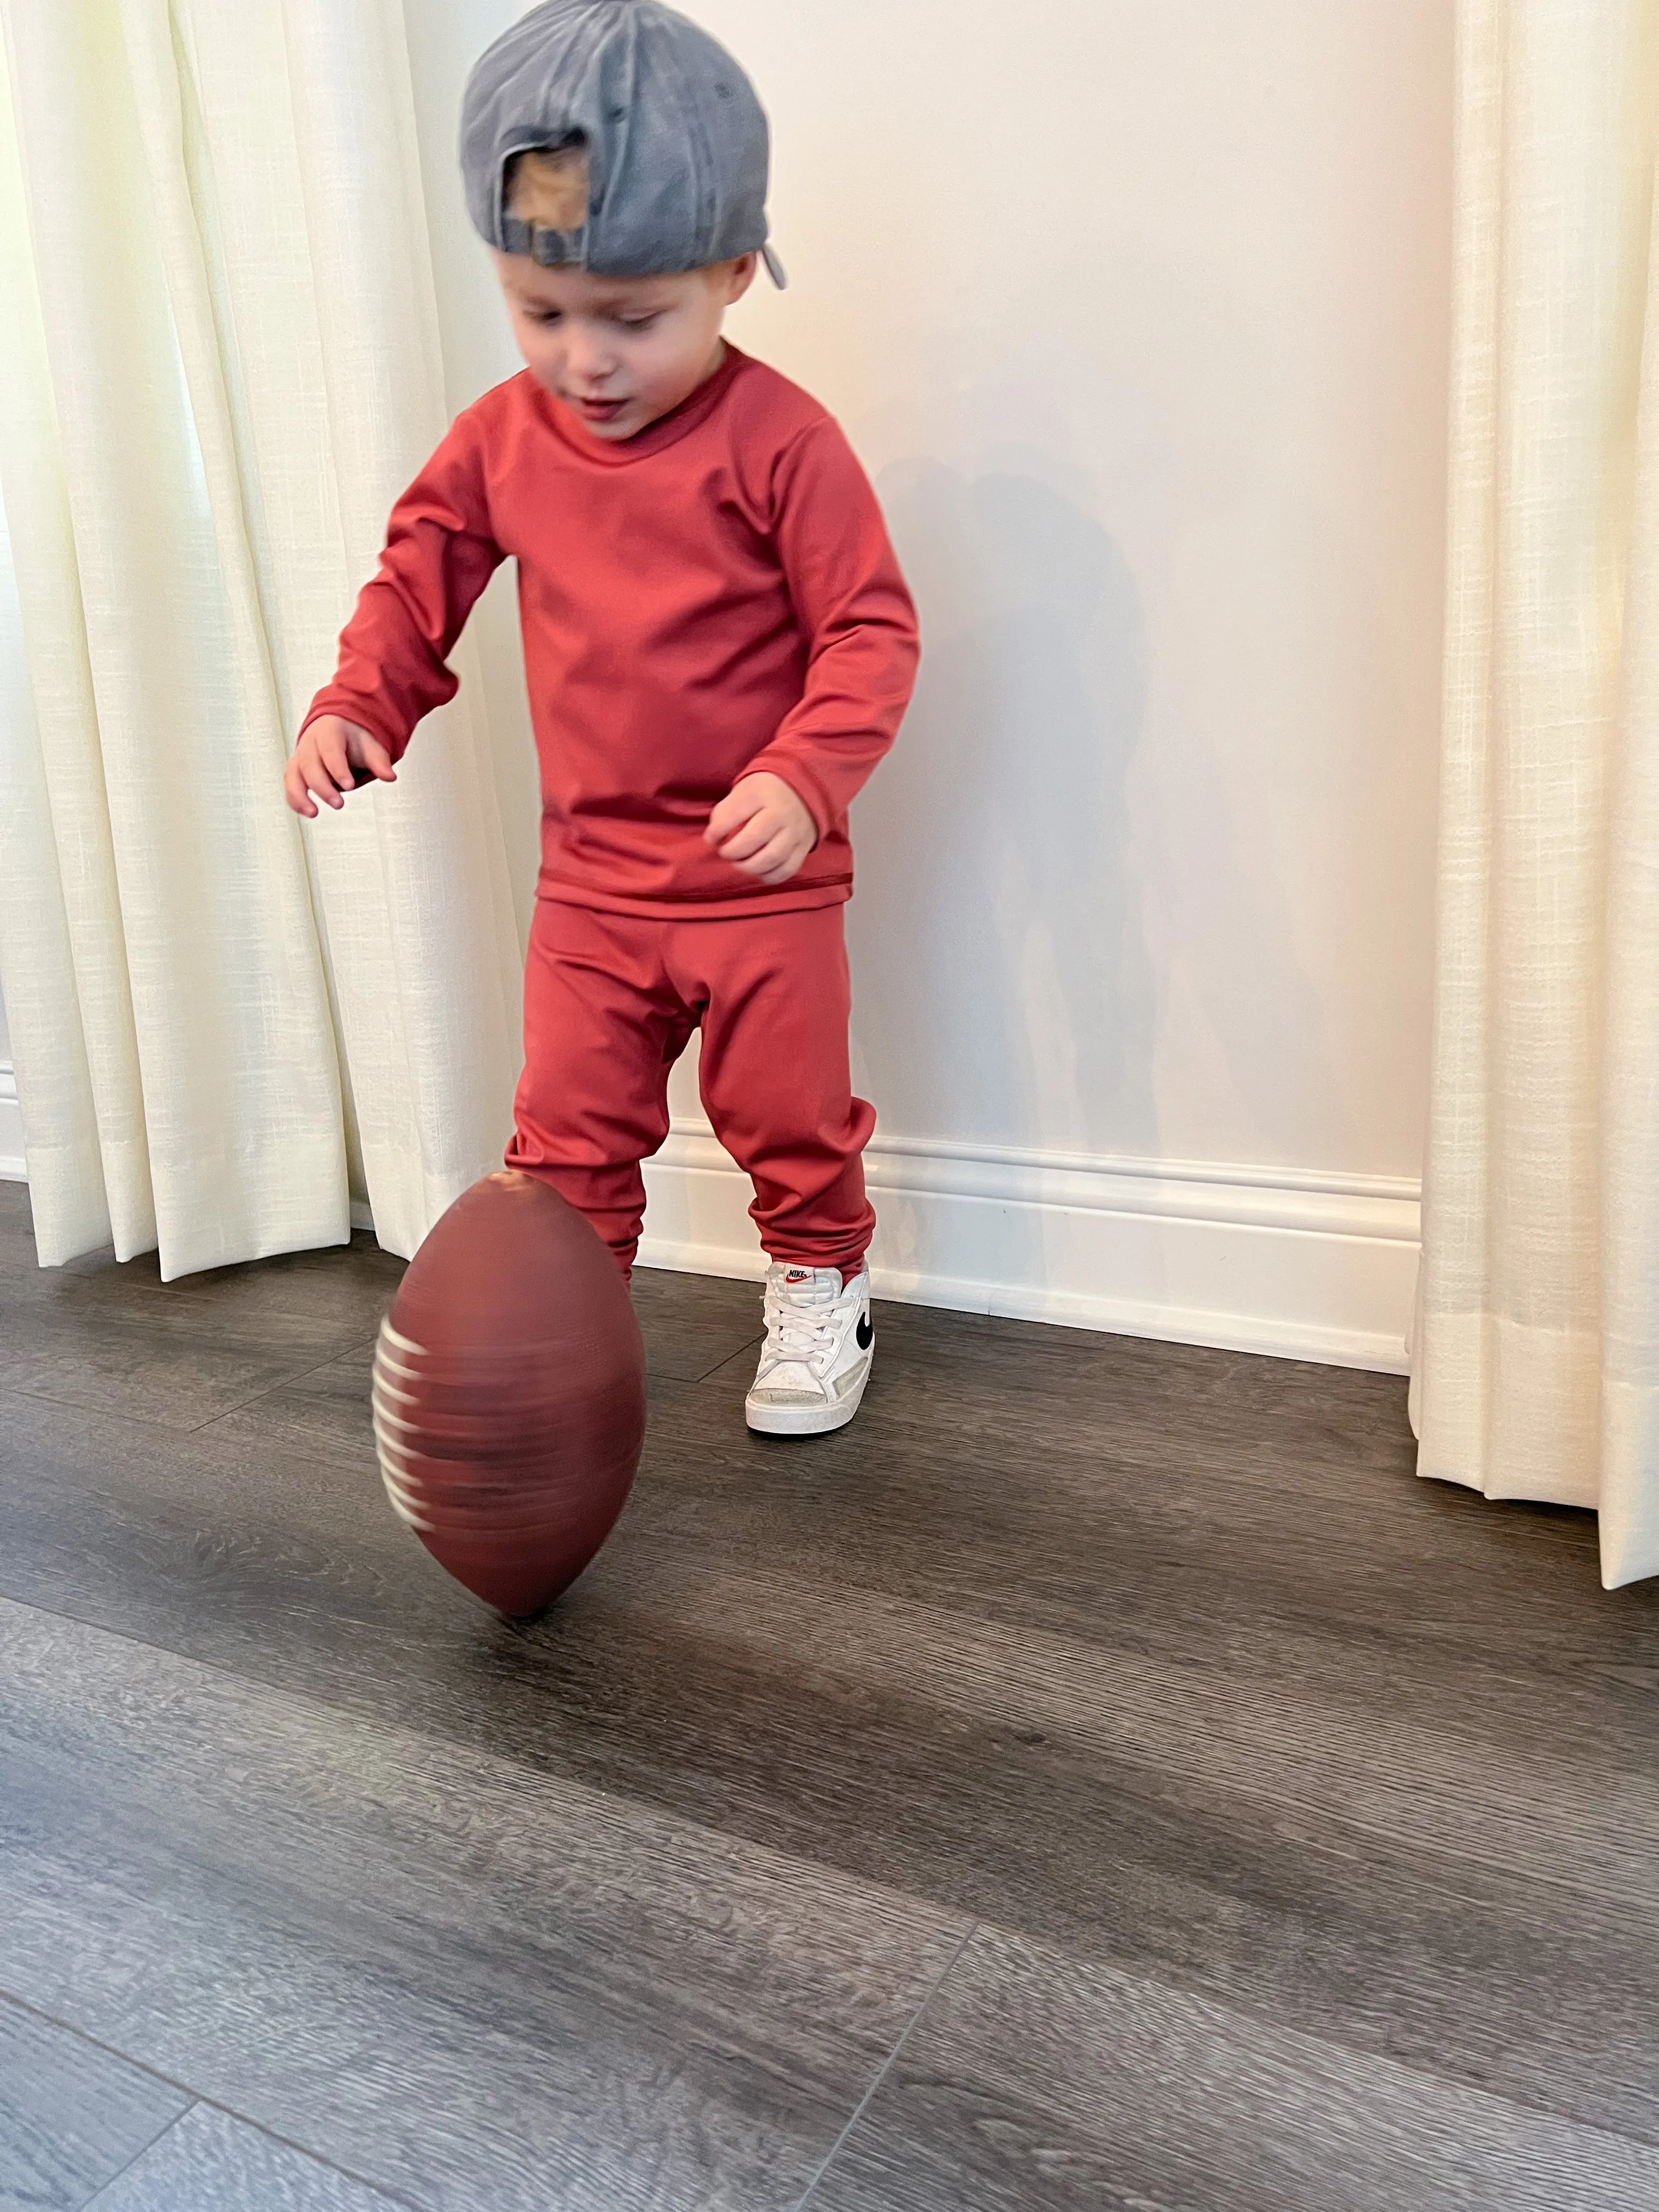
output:
[[[1418,1186],[1398,1177],[876,1137],[876,1292],[916,1305],[1405,1374]],[[708,1124],[646,1164],[639,1261],[759,1276]]]

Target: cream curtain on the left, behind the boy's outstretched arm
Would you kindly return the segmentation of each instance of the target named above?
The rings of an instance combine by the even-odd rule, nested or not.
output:
[[[0,0],[0,982],[44,1261],[411,1252],[500,1155],[478,688],[301,830],[296,717],[445,427],[398,0]],[[469,697],[471,695],[471,697]]]

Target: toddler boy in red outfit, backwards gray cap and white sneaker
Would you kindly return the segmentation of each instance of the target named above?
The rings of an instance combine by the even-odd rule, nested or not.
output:
[[[770,1256],[748,1422],[838,1429],[872,1360],[876,1119],[847,1064],[847,805],[909,701],[916,613],[836,422],[721,341],[757,261],[783,283],[732,58],[657,0],[549,0],[473,69],[460,153],[526,369],[394,507],[288,803],[394,781],[515,557],[542,867],[507,1161],[628,1274],[701,1029]]]

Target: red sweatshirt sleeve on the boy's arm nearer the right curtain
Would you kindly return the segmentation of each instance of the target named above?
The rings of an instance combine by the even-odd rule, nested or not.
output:
[[[790,599],[807,635],[801,703],[748,763],[781,776],[818,836],[852,805],[898,732],[916,684],[916,608],[876,493],[830,418],[779,458],[774,529]]]

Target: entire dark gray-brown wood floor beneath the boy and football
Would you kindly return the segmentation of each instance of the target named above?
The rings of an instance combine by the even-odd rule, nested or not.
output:
[[[0,1188],[0,2208],[1659,2208],[1659,1588],[1402,1385],[885,1307],[743,1429],[641,1274],[615,1537],[389,1513],[372,1245]]]

